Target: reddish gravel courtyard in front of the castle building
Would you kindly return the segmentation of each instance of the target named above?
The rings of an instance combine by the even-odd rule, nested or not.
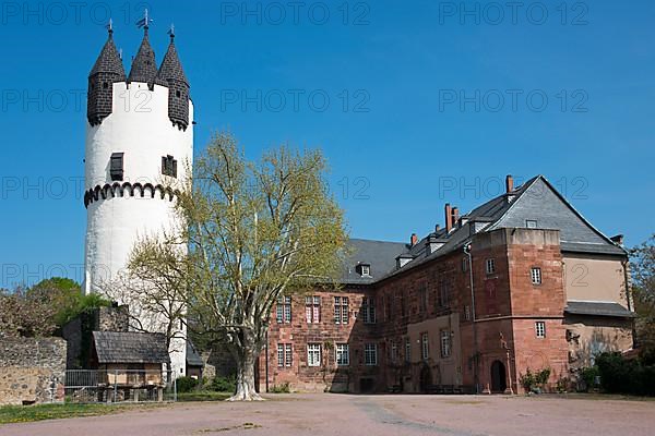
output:
[[[501,396],[277,395],[0,425],[2,436],[653,435],[655,401]]]

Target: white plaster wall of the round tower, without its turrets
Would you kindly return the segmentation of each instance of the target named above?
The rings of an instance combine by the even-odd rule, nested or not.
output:
[[[193,159],[192,102],[189,106],[189,128],[182,131],[168,119],[167,87],[155,85],[151,92],[144,83],[115,83],[112,113],[99,125],[86,125],[86,191],[115,183],[109,175],[112,153],[123,153],[124,175],[119,183],[181,189]],[[162,157],[167,155],[178,161],[177,179],[162,174]],[[134,196],[99,196],[90,203],[84,292],[99,292],[116,280],[140,239],[179,228],[172,207],[167,196],[162,199],[156,192],[152,198],[147,191],[144,197],[136,191]],[[171,361],[175,373],[183,375],[186,347],[171,344]]]

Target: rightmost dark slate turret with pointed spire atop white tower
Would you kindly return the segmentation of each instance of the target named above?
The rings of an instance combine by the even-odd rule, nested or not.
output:
[[[181,130],[189,126],[189,81],[175,48],[175,28],[168,32],[170,44],[157,73],[158,82],[168,87],[168,118]]]

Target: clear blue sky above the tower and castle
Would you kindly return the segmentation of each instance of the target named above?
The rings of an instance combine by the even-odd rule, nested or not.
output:
[[[321,147],[353,237],[425,234],[508,173],[630,245],[655,230],[652,1],[147,3],[157,61],[175,23],[195,152],[222,129],[250,157]],[[109,14],[127,71],[142,37],[144,2],[53,4],[2,3],[0,287],[80,279],[86,76]]]

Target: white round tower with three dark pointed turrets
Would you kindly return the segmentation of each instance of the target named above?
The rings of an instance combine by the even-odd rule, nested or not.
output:
[[[148,26],[126,77],[112,31],[88,76],[85,195],[87,210],[84,292],[111,295],[142,238],[179,231],[176,192],[193,159],[193,104],[170,32],[159,69]],[[181,250],[187,250],[182,246]],[[134,301],[130,312],[140,314]],[[162,323],[140,319],[148,330]],[[186,331],[180,326],[181,337]],[[170,347],[174,374],[186,374],[186,340]]]

